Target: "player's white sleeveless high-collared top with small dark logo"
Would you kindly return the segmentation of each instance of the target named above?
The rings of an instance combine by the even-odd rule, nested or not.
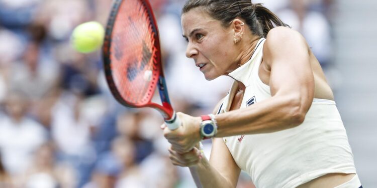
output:
[[[251,59],[229,74],[246,90],[240,108],[271,97],[258,76],[265,39]],[[218,113],[229,111],[237,89],[234,82]],[[346,131],[335,102],[314,99],[305,121],[273,133],[223,138],[235,162],[258,188],[292,188],[327,173],[356,173]]]

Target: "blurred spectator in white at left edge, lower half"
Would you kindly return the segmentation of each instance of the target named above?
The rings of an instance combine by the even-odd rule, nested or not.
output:
[[[32,162],[33,152],[47,139],[43,126],[27,116],[28,97],[11,92],[6,100],[6,116],[0,119],[0,152],[11,175],[20,175]]]

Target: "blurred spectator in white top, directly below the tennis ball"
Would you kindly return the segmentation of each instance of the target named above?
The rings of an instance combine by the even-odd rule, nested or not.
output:
[[[87,180],[87,171],[97,157],[91,140],[92,125],[83,114],[85,100],[82,93],[62,92],[51,112],[51,134],[58,159],[73,165],[79,186]]]

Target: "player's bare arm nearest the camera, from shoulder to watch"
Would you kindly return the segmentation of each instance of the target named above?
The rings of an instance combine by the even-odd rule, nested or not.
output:
[[[270,71],[272,97],[247,108],[216,115],[217,137],[268,133],[300,125],[314,96],[314,76],[305,39],[289,28],[272,29],[263,63]]]

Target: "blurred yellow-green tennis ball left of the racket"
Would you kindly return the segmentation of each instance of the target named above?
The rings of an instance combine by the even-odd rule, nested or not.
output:
[[[105,29],[100,23],[86,22],[73,30],[71,42],[73,48],[78,52],[90,53],[102,46],[104,36]]]

